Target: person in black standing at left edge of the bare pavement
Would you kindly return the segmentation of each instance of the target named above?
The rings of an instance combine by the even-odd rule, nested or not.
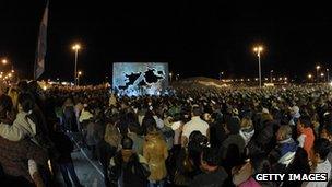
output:
[[[60,153],[59,159],[57,160],[57,163],[60,167],[60,172],[62,174],[63,180],[67,185],[67,187],[71,187],[72,183],[69,179],[69,175],[74,183],[76,187],[82,187],[80,179],[76,175],[72,159],[71,159],[71,153],[74,150],[74,145],[70,138],[62,132],[61,128],[59,125],[55,125],[55,132],[52,133],[52,140],[55,142],[55,145],[57,150]]]

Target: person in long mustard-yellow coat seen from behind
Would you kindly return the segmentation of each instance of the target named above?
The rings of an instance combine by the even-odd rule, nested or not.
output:
[[[167,144],[162,135],[157,131],[155,124],[146,128],[147,135],[143,144],[143,156],[146,159],[151,175],[149,177],[150,186],[164,186],[164,179],[167,176],[165,161],[168,157]]]

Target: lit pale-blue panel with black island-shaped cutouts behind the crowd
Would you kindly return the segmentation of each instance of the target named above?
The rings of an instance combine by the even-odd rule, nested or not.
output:
[[[166,62],[115,62],[112,89],[120,95],[159,95],[168,86]]]

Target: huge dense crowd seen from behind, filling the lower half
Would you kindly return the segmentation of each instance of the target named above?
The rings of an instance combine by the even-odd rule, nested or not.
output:
[[[106,186],[323,187],[331,178],[332,89],[324,85],[127,97],[105,86],[42,91],[21,81],[2,86],[0,117],[8,185],[55,186],[60,172],[67,186],[82,186],[71,159],[79,148],[102,163]],[[256,180],[261,173],[329,179]]]

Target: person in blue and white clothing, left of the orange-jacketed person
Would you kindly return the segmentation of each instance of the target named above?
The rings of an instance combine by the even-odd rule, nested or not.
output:
[[[297,142],[292,138],[290,126],[281,126],[276,132],[276,140],[277,144],[268,157],[270,162],[275,165],[275,170],[287,168],[293,162],[298,148]]]

